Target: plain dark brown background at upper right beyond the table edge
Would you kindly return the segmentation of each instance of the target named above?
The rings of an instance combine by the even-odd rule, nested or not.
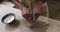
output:
[[[60,20],[60,0],[47,0],[49,17]]]

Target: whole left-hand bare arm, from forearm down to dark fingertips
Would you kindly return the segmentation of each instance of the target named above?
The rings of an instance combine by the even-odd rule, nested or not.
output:
[[[18,2],[17,0],[12,0],[12,2],[15,4],[15,6],[19,9],[21,9],[23,17],[26,18],[28,21],[31,19],[30,14],[29,14],[29,10],[27,7],[25,7],[24,5],[22,5],[20,2]]]

